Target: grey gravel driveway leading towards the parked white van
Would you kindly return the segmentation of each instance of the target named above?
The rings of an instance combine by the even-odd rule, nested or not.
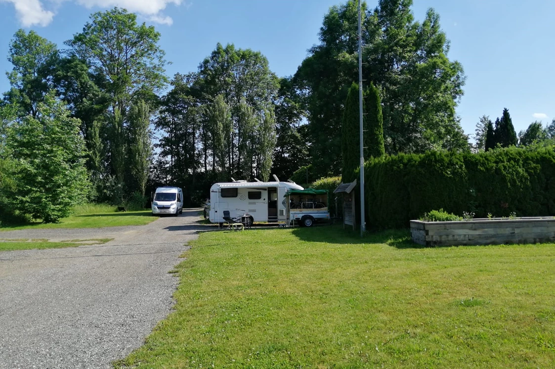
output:
[[[0,368],[109,368],[137,349],[171,310],[168,271],[197,237],[199,210],[142,226],[2,232],[114,240],[0,252]]]

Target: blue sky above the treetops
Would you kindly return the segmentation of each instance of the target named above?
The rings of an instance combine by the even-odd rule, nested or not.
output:
[[[91,12],[126,7],[162,33],[173,64],[168,75],[196,70],[216,43],[262,52],[280,76],[294,74],[317,43],[322,18],[341,0],[0,0],[0,70],[19,28],[34,29],[60,47],[79,32]],[[367,2],[375,7],[377,0]],[[552,0],[414,0],[422,19],[433,7],[451,40],[449,57],[467,75],[457,112],[467,134],[479,117],[511,113],[517,132],[534,120],[555,117],[555,2]],[[16,9],[18,9],[16,11]],[[0,91],[8,89],[0,78]],[[536,114],[536,117],[533,115]],[[538,118],[537,118],[538,117]]]

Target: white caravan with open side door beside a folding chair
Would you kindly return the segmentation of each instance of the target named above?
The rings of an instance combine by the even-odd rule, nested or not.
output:
[[[210,188],[210,222],[223,223],[224,211],[231,218],[249,216],[251,222],[286,222],[285,194],[291,189],[302,187],[292,182],[215,183]]]

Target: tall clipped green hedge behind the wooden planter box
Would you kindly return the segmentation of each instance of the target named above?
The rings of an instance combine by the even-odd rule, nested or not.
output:
[[[479,218],[555,215],[553,148],[384,156],[366,162],[365,177],[369,227],[406,227],[440,208]]]

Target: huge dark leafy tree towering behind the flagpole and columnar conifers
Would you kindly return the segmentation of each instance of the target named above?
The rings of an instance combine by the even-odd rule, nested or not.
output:
[[[415,22],[411,0],[380,0],[363,18],[366,80],[382,92],[384,139],[388,153],[433,148],[466,150],[455,108],[465,76],[448,59],[449,43],[439,16],[430,9]],[[295,79],[306,96],[313,157],[322,168],[334,167],[342,103],[356,79],[357,4],[349,0],[330,8],[320,29],[320,44],[309,50]],[[335,142],[335,145],[334,145]]]

